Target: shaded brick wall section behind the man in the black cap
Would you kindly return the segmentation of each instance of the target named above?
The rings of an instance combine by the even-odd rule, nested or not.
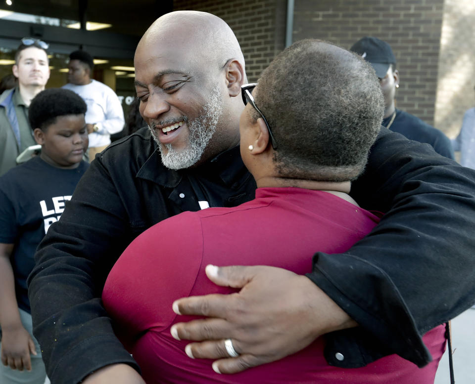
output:
[[[397,108],[433,124],[442,16],[443,0],[296,0],[293,41],[386,41],[398,62]]]

